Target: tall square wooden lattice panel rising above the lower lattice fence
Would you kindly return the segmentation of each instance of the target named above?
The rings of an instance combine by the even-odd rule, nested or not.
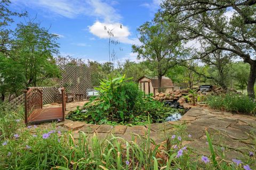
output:
[[[92,88],[90,69],[86,65],[65,65],[60,68],[62,70],[60,85],[66,88],[66,92],[84,94],[85,98],[86,89]]]

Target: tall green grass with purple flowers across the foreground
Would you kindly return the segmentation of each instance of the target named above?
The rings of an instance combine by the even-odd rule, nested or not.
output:
[[[54,123],[47,129],[25,127],[23,120],[16,121],[20,116],[1,113],[0,122],[6,126],[1,124],[0,169],[242,169],[225,158],[217,162],[215,155],[212,160],[216,161],[209,157],[210,162],[204,163],[202,155],[184,148],[186,125],[175,126],[172,133],[166,131],[162,143],[151,140],[149,130],[145,136],[134,135],[132,141],[113,134],[99,139],[97,133],[83,132],[74,139],[71,132],[58,132],[61,128]],[[245,156],[244,163],[253,162],[255,157]]]

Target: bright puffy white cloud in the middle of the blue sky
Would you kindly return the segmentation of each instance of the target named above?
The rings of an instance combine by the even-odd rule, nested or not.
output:
[[[121,43],[126,44],[138,44],[139,40],[138,38],[129,38],[131,35],[129,28],[122,25],[122,29],[120,28],[121,23],[105,23],[96,21],[92,26],[89,26],[89,31],[93,35],[99,37],[99,38],[109,38],[109,35],[107,33],[107,30],[113,29],[114,38],[117,39]],[[104,29],[104,27],[107,28],[107,30]]]

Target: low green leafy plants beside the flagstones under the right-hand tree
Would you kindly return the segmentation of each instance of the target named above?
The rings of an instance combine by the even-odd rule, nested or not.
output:
[[[245,114],[256,113],[256,103],[249,96],[236,93],[209,95],[206,103],[213,109],[221,109]]]

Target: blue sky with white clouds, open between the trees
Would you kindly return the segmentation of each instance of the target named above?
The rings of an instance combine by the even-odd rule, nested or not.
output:
[[[154,18],[161,0],[110,1],[110,0],[13,0],[11,9],[28,11],[41,26],[58,34],[60,54],[74,58],[108,61],[108,39],[104,26],[114,29],[120,42],[112,46],[118,60],[136,60],[132,44],[139,44],[136,29]],[[17,21],[25,21],[20,18]],[[122,24],[123,28],[120,29]],[[122,48],[122,51],[119,49]]]

